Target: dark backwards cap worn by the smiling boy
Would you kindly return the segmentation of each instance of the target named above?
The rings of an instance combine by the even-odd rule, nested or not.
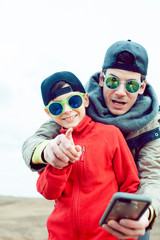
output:
[[[52,91],[53,85],[59,81],[65,81],[70,86]],[[42,99],[45,106],[57,96],[73,91],[85,93],[82,83],[72,72],[56,72],[46,78],[41,84]]]

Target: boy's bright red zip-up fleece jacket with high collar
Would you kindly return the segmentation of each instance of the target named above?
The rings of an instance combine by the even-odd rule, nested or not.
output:
[[[118,128],[95,123],[88,116],[72,136],[83,149],[81,159],[62,170],[47,165],[37,180],[37,190],[55,200],[47,221],[48,239],[117,239],[99,226],[99,220],[115,192],[138,189],[130,150]]]

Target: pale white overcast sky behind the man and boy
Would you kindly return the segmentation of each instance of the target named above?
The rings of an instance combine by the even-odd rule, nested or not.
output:
[[[159,0],[0,0],[0,194],[36,192],[21,146],[48,119],[40,84],[52,73],[72,71],[85,84],[112,43],[131,39],[148,52],[160,99],[159,24]]]

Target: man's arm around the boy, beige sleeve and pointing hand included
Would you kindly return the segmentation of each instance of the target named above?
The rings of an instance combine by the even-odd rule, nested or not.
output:
[[[51,119],[23,144],[23,158],[32,171],[43,170],[47,163],[61,169],[68,162],[79,160],[80,146],[71,143],[68,135],[59,134],[59,130],[60,126]]]

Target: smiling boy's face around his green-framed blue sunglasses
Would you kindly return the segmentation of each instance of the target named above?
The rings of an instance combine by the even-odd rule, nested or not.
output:
[[[69,93],[60,95],[51,102],[61,102],[61,101],[67,100],[69,97],[76,95],[76,93],[79,93],[79,92],[69,92]],[[89,105],[88,94],[83,95],[82,98],[83,98],[82,105],[77,109],[72,109],[70,106],[68,106],[67,102],[64,102],[63,103],[64,110],[63,110],[62,114],[60,114],[58,116],[51,115],[47,109],[45,109],[45,111],[60,126],[67,128],[67,129],[70,127],[76,127],[82,121],[82,119],[85,117],[86,107],[88,107],[88,105]]]

